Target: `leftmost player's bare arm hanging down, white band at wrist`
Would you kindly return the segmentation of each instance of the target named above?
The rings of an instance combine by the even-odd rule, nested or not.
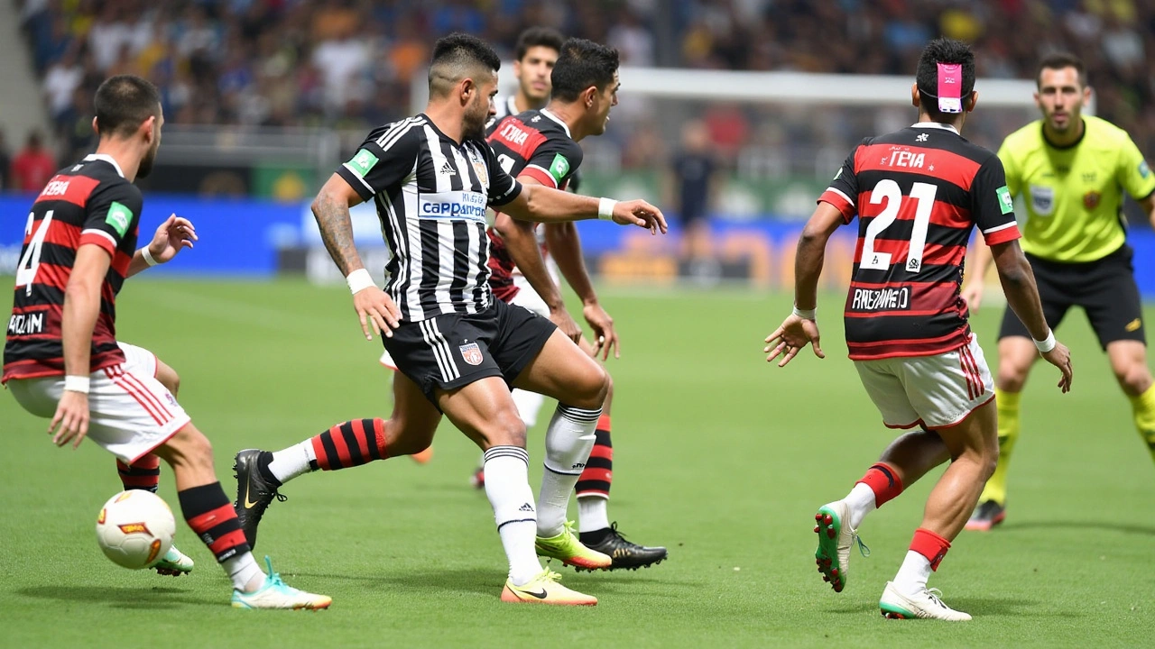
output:
[[[111,264],[112,256],[104,248],[85,244],[76,249],[76,260],[68,275],[60,322],[65,353],[65,391],[49,424],[49,434],[52,435],[52,443],[57,446],[73,441],[73,448],[76,448],[88,434],[92,329],[96,328],[96,319],[100,313],[100,285]]]

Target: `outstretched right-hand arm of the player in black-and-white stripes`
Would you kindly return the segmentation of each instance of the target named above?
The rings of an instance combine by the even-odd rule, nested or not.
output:
[[[662,210],[642,200],[614,201],[571,194],[544,185],[527,185],[501,211],[514,218],[539,223],[602,218],[619,225],[638,225],[665,234]]]

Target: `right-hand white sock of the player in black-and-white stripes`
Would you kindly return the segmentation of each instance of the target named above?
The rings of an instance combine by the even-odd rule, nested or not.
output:
[[[587,410],[559,403],[550,419],[545,431],[545,471],[537,497],[537,536],[554,537],[565,528],[569,493],[586,468],[589,452],[594,450],[594,430],[601,416],[601,408]]]

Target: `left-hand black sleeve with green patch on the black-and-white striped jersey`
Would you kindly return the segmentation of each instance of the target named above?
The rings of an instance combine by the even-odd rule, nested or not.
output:
[[[368,134],[349,162],[337,167],[363,201],[401,184],[417,162],[420,122],[407,119]]]

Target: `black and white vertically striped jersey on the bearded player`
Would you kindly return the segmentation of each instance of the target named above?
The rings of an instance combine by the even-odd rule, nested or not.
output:
[[[513,201],[521,184],[484,140],[459,144],[419,114],[374,129],[337,173],[377,204],[392,252],[385,291],[402,321],[490,307],[485,208]]]

